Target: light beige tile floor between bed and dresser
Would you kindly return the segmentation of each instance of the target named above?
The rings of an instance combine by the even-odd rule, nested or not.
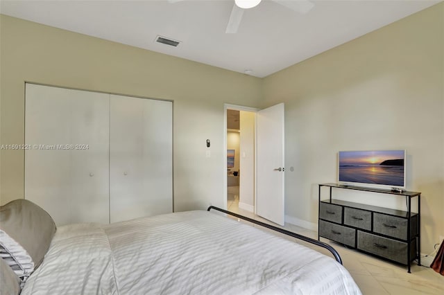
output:
[[[262,217],[239,209],[238,192],[239,186],[228,187],[228,211],[239,213],[262,222],[268,222]],[[288,231],[293,231],[309,238],[318,238],[318,233],[316,233],[316,231],[310,231],[308,229],[303,229],[299,226],[287,223],[282,227]],[[281,235],[280,233],[277,234]],[[296,240],[285,235],[282,236],[291,240]],[[343,260],[343,265],[346,269],[348,269],[364,295],[444,295],[444,276],[441,276],[429,267],[412,264],[411,274],[408,274],[407,267],[403,265],[384,261],[379,258],[366,255],[365,253],[348,249],[341,244],[337,244],[323,238],[321,238],[321,241],[331,244],[332,247],[339,252],[339,255]],[[315,249],[316,251],[320,251],[321,253],[331,256],[329,251],[319,249],[319,247],[315,245],[303,241],[298,241],[298,243],[305,244],[311,249]]]

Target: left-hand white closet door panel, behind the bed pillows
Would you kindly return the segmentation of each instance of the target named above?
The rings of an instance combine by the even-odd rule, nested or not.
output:
[[[109,97],[26,84],[25,199],[58,226],[109,222]]]

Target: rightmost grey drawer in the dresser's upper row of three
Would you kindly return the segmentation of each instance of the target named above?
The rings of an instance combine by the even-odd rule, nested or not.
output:
[[[381,213],[373,214],[373,231],[407,240],[407,219]]]

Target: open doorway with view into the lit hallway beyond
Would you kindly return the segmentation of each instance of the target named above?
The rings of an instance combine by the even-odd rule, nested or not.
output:
[[[256,111],[225,106],[226,208],[235,213],[255,213]]]

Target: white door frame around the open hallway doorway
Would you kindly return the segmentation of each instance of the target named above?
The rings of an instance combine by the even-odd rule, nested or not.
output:
[[[229,103],[223,104],[223,208],[227,209],[227,194],[228,194],[228,175],[227,175],[227,109],[232,109],[234,111],[250,111],[252,113],[257,113],[260,109],[257,109],[256,107],[245,107],[242,105],[231,105]],[[256,128],[256,118],[255,118],[255,128]],[[256,165],[256,138],[255,138],[255,165]],[[256,170],[255,170],[255,186],[256,186]],[[240,188],[240,182],[239,182],[239,188]],[[256,190],[255,190],[255,210],[254,213],[256,214]]]

